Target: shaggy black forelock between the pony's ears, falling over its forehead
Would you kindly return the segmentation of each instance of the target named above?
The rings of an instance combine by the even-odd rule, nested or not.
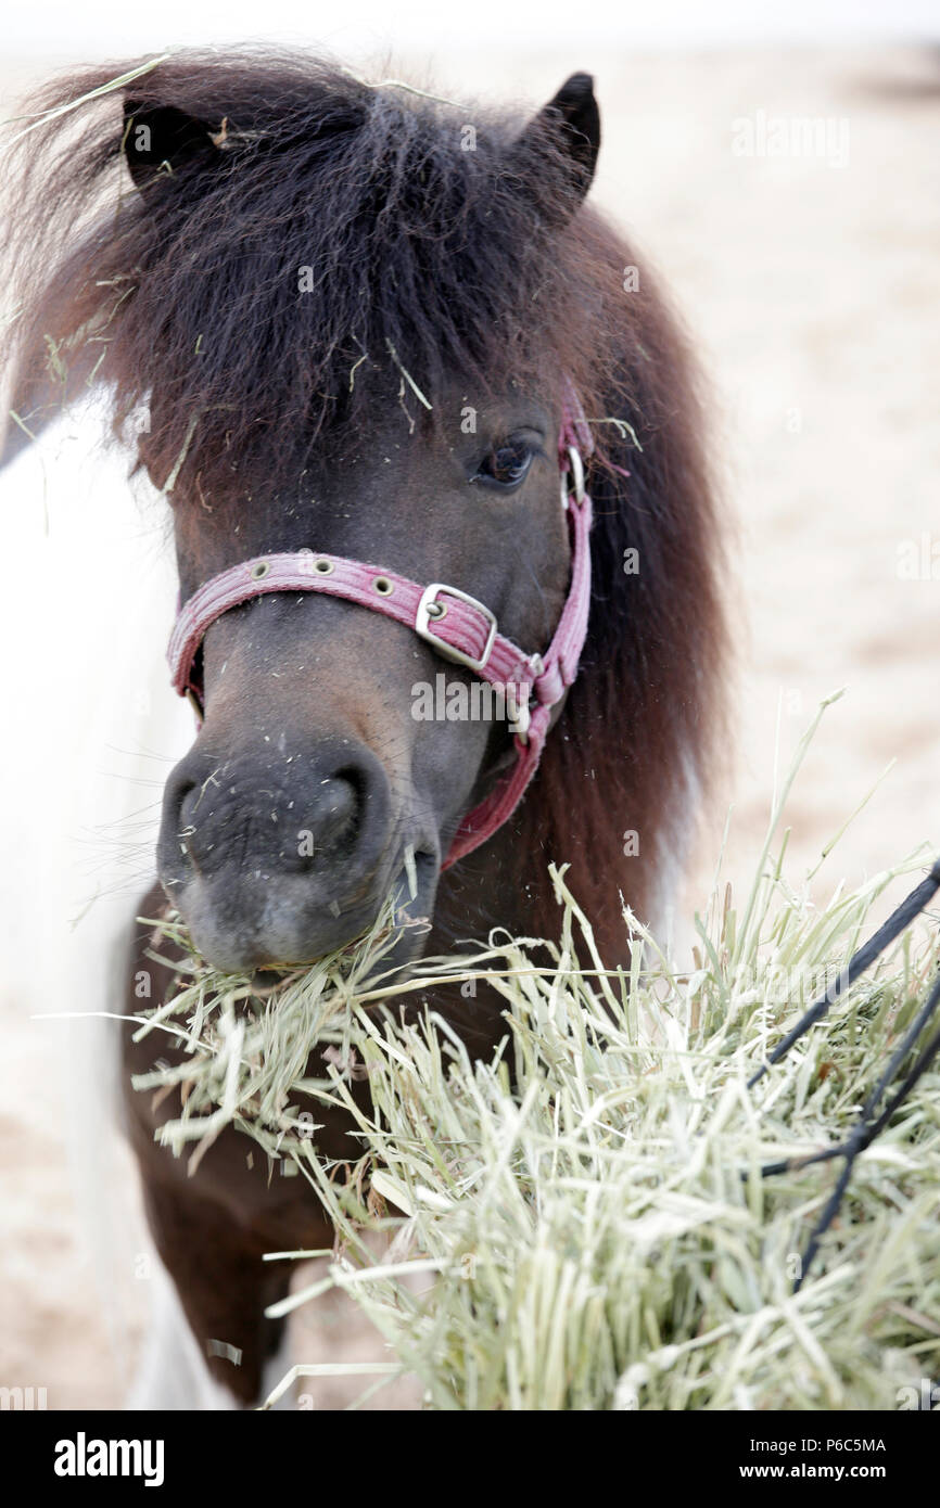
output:
[[[42,104],[127,71],[69,78]],[[158,484],[184,445],[207,496],[232,463],[243,484],[297,464],[303,445],[364,421],[370,369],[388,371],[392,400],[404,369],[432,404],[448,375],[483,395],[543,385],[560,362],[575,379],[596,371],[594,268],[560,229],[576,208],[570,172],[551,142],[531,170],[525,118],[297,56],[183,54],[125,98],[127,121],[106,95],[77,139],[60,124],[29,139],[41,202],[20,220],[20,273],[35,287],[48,241],[74,238],[97,207],[56,274],[68,306],[53,291],[30,333],[51,335],[75,372],[89,339],[104,351],[97,377],[119,419],[152,395],[142,454]],[[137,193],[128,136],[167,106],[213,145]]]

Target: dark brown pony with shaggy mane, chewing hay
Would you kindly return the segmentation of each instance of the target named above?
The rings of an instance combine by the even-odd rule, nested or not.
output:
[[[415,715],[418,686],[444,671],[469,688],[474,665],[349,597],[241,594],[184,677],[201,721],[166,781],[158,879],[137,914],[172,905],[210,962],[266,979],[356,938],[410,855],[410,911],[430,926],[401,927],[407,964],[496,926],[551,935],[555,861],[602,955],[625,962],[623,905],[661,917],[709,789],[727,633],[690,342],[585,204],[593,80],[573,74],[530,116],[315,56],[180,53],[71,74],[38,110],[8,246],[11,443],[104,385],[169,507],[183,605],[238,562],[263,575],[314,550],[374,562],[388,585],[448,584],[542,651],[572,569],[557,458],[570,403],[593,502],[579,670],[524,799],[484,843],[448,863],[524,728]],[[136,923],[128,1013],[140,970],[157,998],[172,988],[148,944]],[[504,1036],[495,994],[424,1003],[474,1054]],[[154,1056],[124,1038],[148,1221],[190,1357],[216,1401],[252,1405],[284,1341],[266,1309],[288,1283],[263,1256],[332,1232],[315,1194],[252,1166],[231,1129],[187,1178],[155,1140],[172,1104],[130,1089]],[[324,1160],[359,1155],[338,1111],[317,1120]],[[181,1372],[160,1399],[189,1405]]]

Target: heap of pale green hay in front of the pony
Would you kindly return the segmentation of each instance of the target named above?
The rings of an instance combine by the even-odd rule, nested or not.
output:
[[[531,941],[499,941],[356,992],[368,971],[358,953],[312,1003],[309,980],[290,982],[237,1051],[234,1018],[223,1030],[205,995],[190,998],[199,1093],[290,1157],[338,1228],[327,1276],[272,1313],[347,1289],[432,1408],[917,1405],[922,1380],[940,1374],[940,1072],[859,1158],[798,1294],[800,1253],[836,1173],[760,1169],[845,1139],[937,971],[935,926],[922,920],[754,1090],[747,1080],[922,857],[813,906],[785,876],[786,835],[771,857],[794,775],[741,908],[717,878],[691,971],[629,912],[631,965],[605,971],[554,870],[561,926],[548,967]],[[432,1015],[397,1019],[401,997],[445,976],[486,979],[502,997],[508,1041],[495,1062],[471,1063]],[[303,1015],[296,1039],[275,1025],[282,1012]],[[210,1021],[216,1066],[201,1057]],[[257,1078],[264,1033],[287,1031],[297,1066],[320,1027],[338,1045],[327,1080],[294,1089],[355,1116],[364,1157],[346,1182],[296,1134],[284,1065],[269,1068],[276,1092]],[[249,1056],[232,1090],[231,1063]],[[350,1095],[355,1060],[370,1114]],[[166,1128],[178,1145],[195,1131],[192,1116]],[[394,1232],[379,1262],[376,1228]],[[376,1363],[383,1380],[388,1365]]]

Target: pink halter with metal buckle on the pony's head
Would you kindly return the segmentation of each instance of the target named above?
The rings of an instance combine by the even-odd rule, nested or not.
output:
[[[545,654],[527,654],[518,648],[499,633],[490,609],[456,587],[441,581],[419,587],[397,572],[306,549],[241,561],[210,578],[193,593],[180,611],[169,641],[167,659],[175,689],[181,697],[193,700],[201,718],[199,691],[190,677],[207,629],[229,608],[269,591],[321,591],[329,597],[356,602],[361,608],[371,608],[373,612],[404,623],[442,659],[465,665],[498,691],[511,688],[515,715],[510,725],[516,763],[489,796],[463,817],[442,864],[442,869],[450,869],[459,858],[486,843],[522,801],[542,756],[552,707],[561,701],[578,674],[591,594],[591,499],[584,490],[581,451],[590,455],[593,437],[578,397],[570,383],[566,383],[558,467],[561,507],[567,513],[572,540],[572,570],[567,600]]]

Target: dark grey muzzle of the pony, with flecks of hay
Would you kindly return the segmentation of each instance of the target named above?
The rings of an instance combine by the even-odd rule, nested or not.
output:
[[[401,867],[389,778],[352,739],[172,772],[158,870],[216,968],[306,964],[371,924]]]

